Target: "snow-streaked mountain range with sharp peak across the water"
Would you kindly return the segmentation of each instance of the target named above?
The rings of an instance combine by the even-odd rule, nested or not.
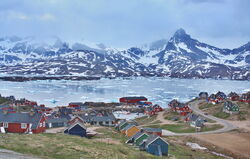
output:
[[[170,40],[118,50],[59,38],[0,38],[0,73],[250,79],[250,42],[220,49],[179,29]]]

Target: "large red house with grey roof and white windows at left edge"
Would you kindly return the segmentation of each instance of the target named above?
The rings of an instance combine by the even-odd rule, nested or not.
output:
[[[11,113],[0,111],[0,127],[10,133],[41,133],[45,131],[45,116],[37,112]]]

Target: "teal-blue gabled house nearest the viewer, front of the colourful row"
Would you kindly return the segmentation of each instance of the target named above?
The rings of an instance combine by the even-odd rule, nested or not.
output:
[[[168,142],[157,135],[150,135],[141,145],[140,149],[146,150],[156,156],[168,155]]]

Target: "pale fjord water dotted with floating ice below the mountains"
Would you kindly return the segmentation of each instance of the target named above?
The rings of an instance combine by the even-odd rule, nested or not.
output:
[[[0,81],[2,96],[35,100],[46,106],[63,106],[70,102],[118,102],[123,96],[145,96],[150,101],[167,107],[173,98],[182,102],[196,97],[199,92],[216,93],[250,91],[249,81],[212,79],[130,78],[92,81],[41,80],[27,82]]]

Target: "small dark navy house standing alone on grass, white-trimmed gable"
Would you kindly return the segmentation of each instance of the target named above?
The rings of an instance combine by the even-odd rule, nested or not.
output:
[[[64,130],[65,134],[87,137],[87,128],[80,122],[76,122]]]

